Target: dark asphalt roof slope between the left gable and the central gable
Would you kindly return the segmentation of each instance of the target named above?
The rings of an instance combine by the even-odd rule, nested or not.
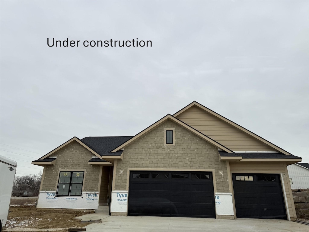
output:
[[[121,155],[122,151],[110,153],[114,148],[131,139],[133,136],[85,137],[81,139],[101,156]]]

